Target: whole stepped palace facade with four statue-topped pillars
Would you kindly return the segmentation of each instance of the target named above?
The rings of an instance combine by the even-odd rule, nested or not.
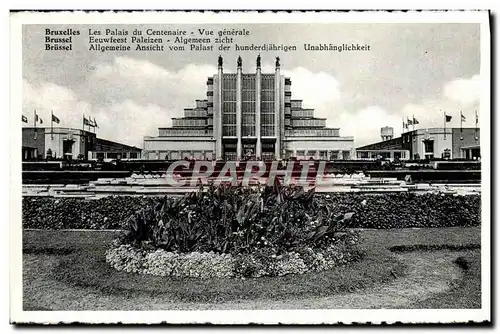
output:
[[[292,99],[292,81],[281,74],[279,58],[274,73],[218,73],[207,80],[207,99],[184,109],[172,127],[159,128],[144,138],[146,159],[281,160],[351,159],[354,138],[341,137],[338,128],[314,116],[301,100]]]

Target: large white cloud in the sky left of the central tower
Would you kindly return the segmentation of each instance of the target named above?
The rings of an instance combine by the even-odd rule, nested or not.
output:
[[[23,82],[23,114],[32,126],[33,110],[50,126],[50,111],[59,126],[82,128],[82,114],[95,117],[100,138],[142,147],[144,136],[158,135],[158,127],[171,125],[172,117],[206,98],[206,78],[213,66],[188,64],[169,71],[149,61],[117,57],[94,65],[78,87],[51,82]]]

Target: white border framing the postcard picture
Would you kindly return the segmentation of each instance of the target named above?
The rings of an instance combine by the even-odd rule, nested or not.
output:
[[[480,104],[481,148],[490,152],[490,26],[486,11],[437,12],[56,12],[11,13],[11,119],[10,119],[10,320],[15,323],[212,323],[212,324],[335,324],[335,323],[450,323],[491,320],[490,164],[482,158],[482,309],[479,310],[242,310],[242,311],[23,311],[22,310],[22,222],[21,222],[21,133],[22,25],[23,24],[190,24],[190,23],[430,23],[481,24]]]

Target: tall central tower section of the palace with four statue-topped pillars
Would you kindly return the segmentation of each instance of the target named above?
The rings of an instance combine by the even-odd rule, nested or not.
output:
[[[217,75],[209,80],[208,89],[212,86],[213,93],[207,94],[208,107],[213,105],[216,159],[281,159],[280,138],[284,133],[281,109],[284,111],[287,106],[279,58],[274,74],[261,73],[260,55],[255,73],[243,73],[242,63],[238,57],[236,73],[224,73],[219,57]],[[286,104],[290,109],[290,101]]]

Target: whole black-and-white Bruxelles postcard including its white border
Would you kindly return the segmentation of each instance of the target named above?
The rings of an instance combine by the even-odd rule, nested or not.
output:
[[[10,321],[491,321],[489,20],[11,12]]]

